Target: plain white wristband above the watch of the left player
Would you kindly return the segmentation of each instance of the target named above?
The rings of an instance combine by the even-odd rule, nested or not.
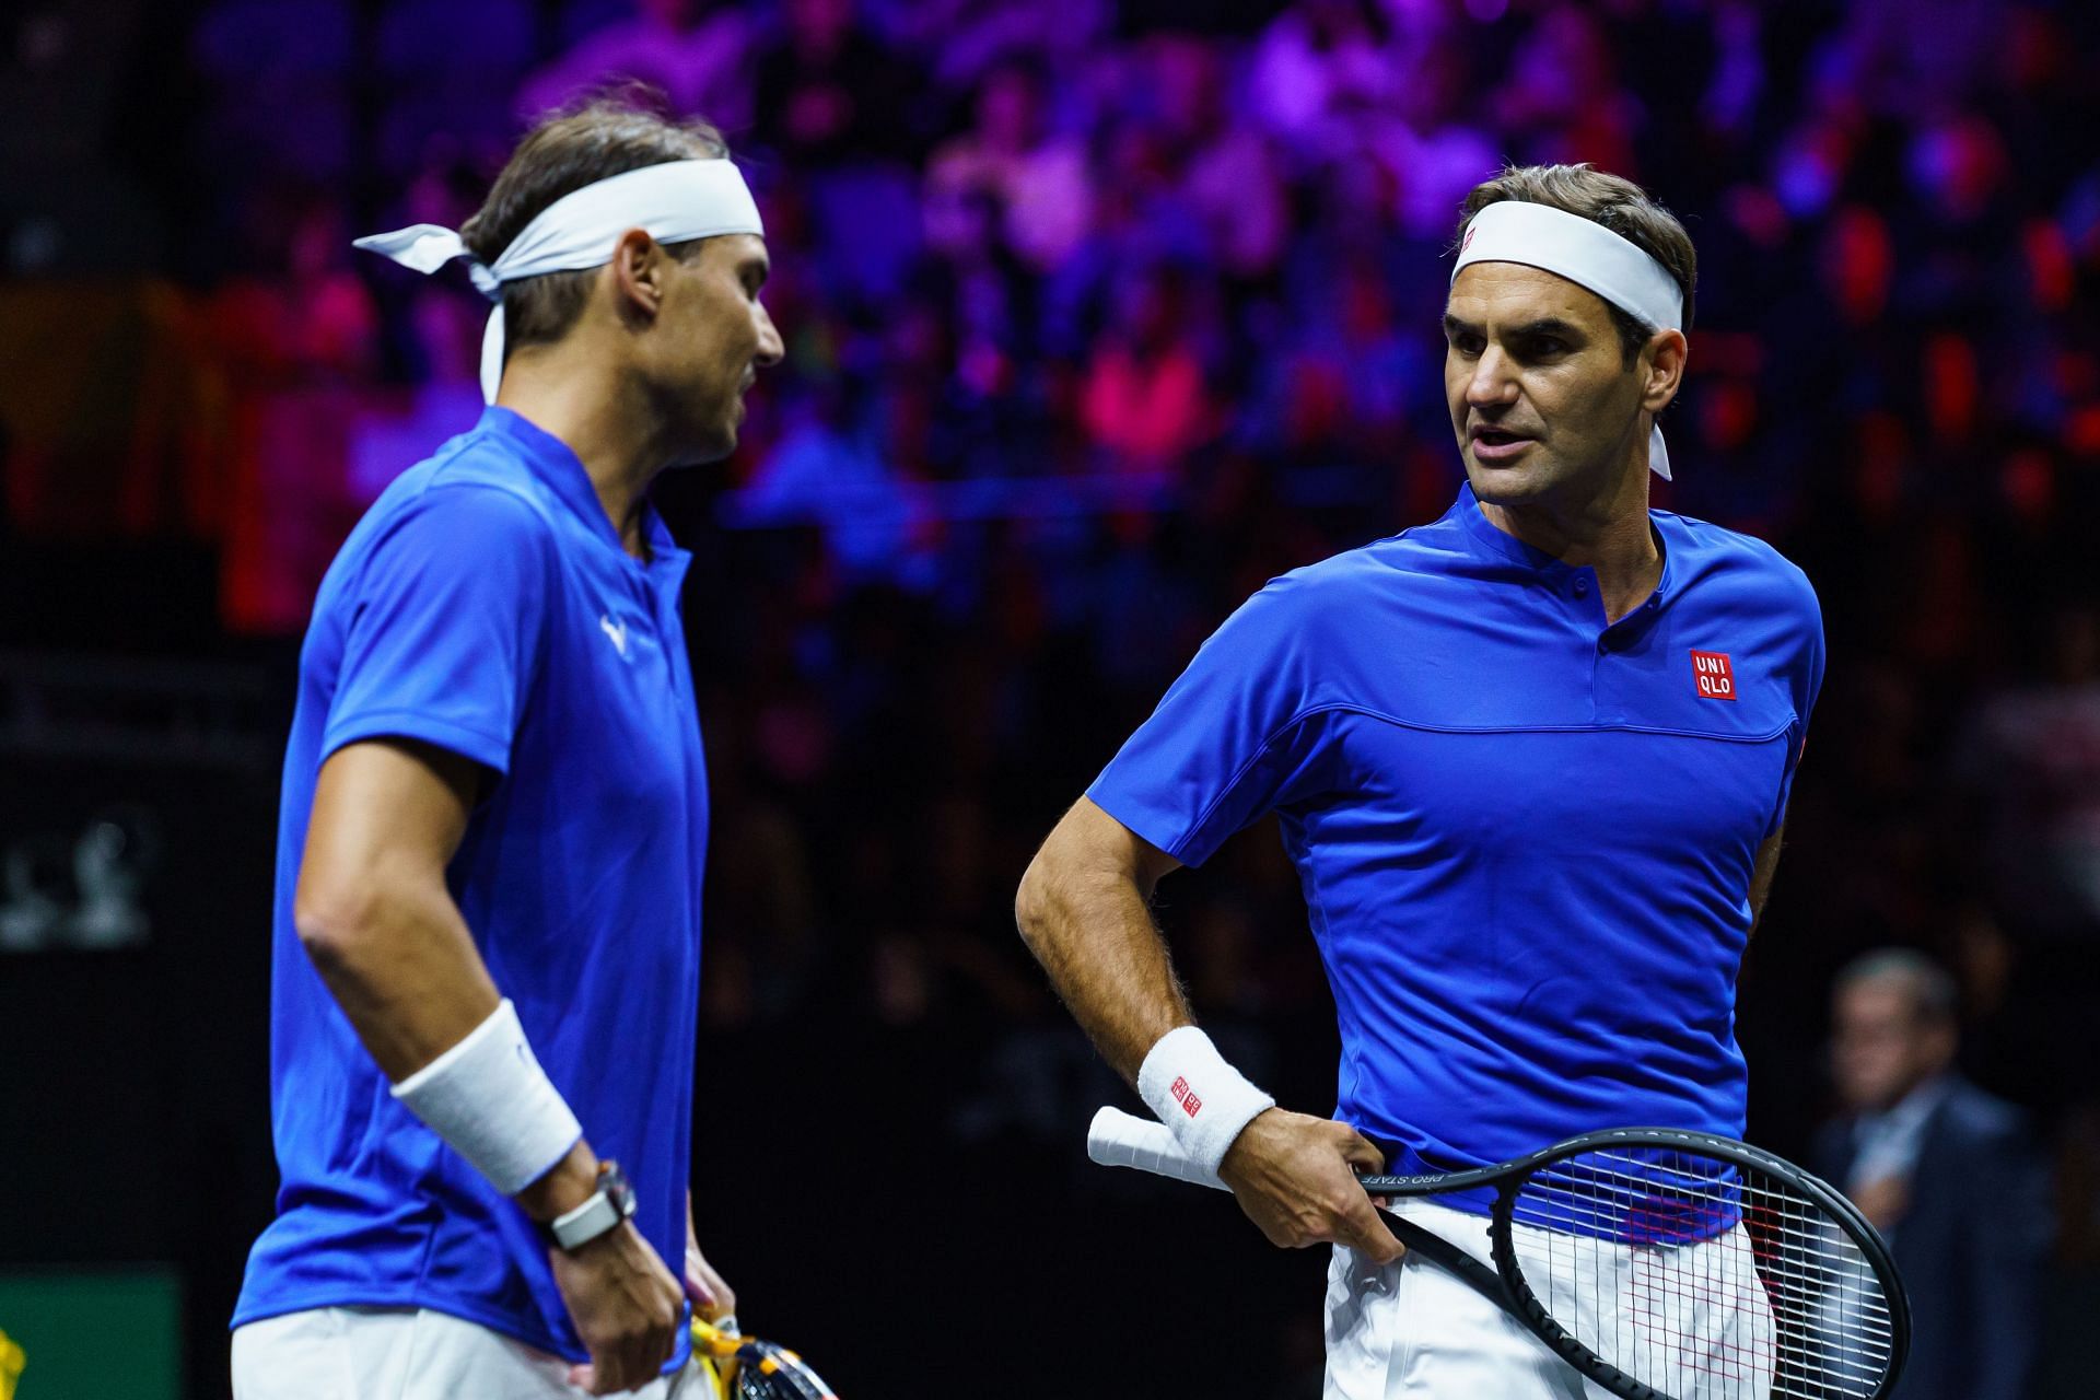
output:
[[[508,997],[393,1096],[506,1196],[546,1175],[584,1136]]]

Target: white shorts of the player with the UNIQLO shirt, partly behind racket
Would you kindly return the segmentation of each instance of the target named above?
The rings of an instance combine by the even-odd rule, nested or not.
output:
[[[1434,1230],[1483,1264],[1489,1261],[1485,1217],[1428,1201],[1394,1201],[1388,1209]],[[1522,1236],[1527,1228],[1518,1226],[1518,1232]],[[1728,1341],[1722,1343],[1726,1356],[1760,1348],[1770,1352],[1772,1318],[1762,1289],[1754,1282],[1747,1289],[1735,1285],[1737,1274],[1743,1274],[1739,1251],[1747,1249],[1739,1234],[1741,1226],[1695,1247],[1716,1278],[1707,1295],[1716,1306],[1730,1308],[1724,1333]],[[1527,1253],[1522,1238],[1518,1253]],[[1611,1274],[1625,1293],[1619,1308],[1628,1318],[1644,1308],[1642,1316],[1655,1316],[1653,1303],[1642,1299],[1640,1255],[1623,1247],[1615,1253],[1621,1259]],[[1718,1285],[1722,1278],[1728,1280],[1726,1287]],[[1548,1306],[1558,1316],[1567,1316],[1571,1308],[1567,1299],[1548,1299]],[[1693,1358],[1667,1356],[1686,1335],[1714,1333],[1705,1318],[1697,1327],[1682,1318],[1676,1327],[1655,1329],[1653,1348],[1661,1352],[1646,1360],[1665,1371],[1672,1360],[1690,1362]],[[1768,1390],[1768,1375],[1762,1381],[1737,1377],[1716,1383],[1712,1394],[1762,1400]],[[1611,1400],[1611,1394],[1586,1381],[1531,1329],[1449,1270],[1413,1255],[1380,1268],[1338,1245],[1327,1268],[1325,1400]]]

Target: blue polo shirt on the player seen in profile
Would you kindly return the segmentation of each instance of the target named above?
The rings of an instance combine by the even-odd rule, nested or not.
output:
[[[533,1224],[393,1100],[292,926],[315,775],[359,739],[420,739],[494,775],[452,894],[592,1148],[634,1182],[634,1226],[682,1268],[708,796],[689,556],[653,512],[649,546],[651,563],[628,556],[575,453],[491,407],[397,479],[328,569],[277,823],[284,1184],[235,1327],[433,1308],[588,1360]]]

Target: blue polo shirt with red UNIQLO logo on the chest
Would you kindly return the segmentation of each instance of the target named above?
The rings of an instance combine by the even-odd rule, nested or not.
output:
[[[1298,569],[1203,644],[1088,796],[1189,865],[1277,812],[1390,1171],[1598,1127],[1743,1136],[1735,976],[1823,680],[1770,546],[1651,512],[1655,594],[1434,525]]]

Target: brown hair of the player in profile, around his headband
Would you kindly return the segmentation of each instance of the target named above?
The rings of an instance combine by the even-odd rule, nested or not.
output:
[[[460,239],[483,262],[496,262],[525,225],[586,185],[674,160],[729,157],[722,132],[699,120],[670,122],[643,105],[651,97],[647,88],[628,88],[544,118],[510,153],[481,210],[460,227]],[[691,246],[697,239],[672,252]],[[504,283],[506,357],[521,344],[561,340],[584,313],[590,279],[584,269]]]

